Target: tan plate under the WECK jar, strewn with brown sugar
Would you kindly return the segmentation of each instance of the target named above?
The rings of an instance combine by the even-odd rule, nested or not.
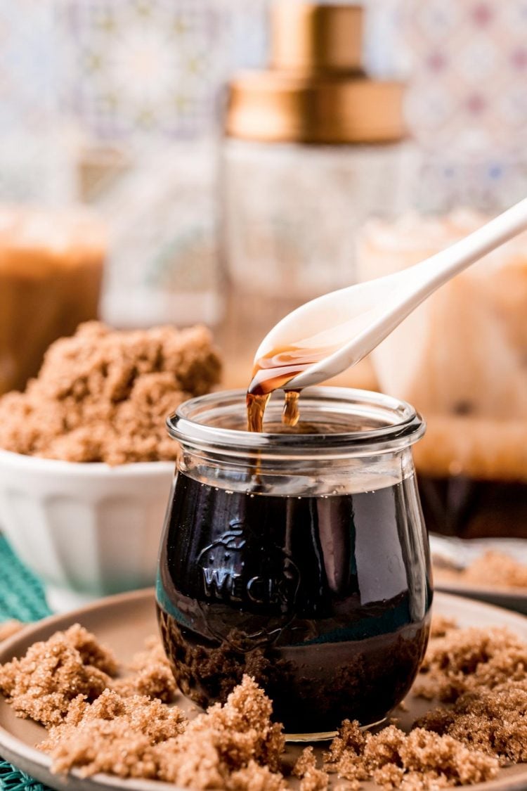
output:
[[[449,596],[446,593],[436,593],[434,611],[436,615],[455,618],[459,626],[509,626],[527,640],[527,618],[497,607],[489,607],[487,604]],[[28,626],[2,644],[0,663],[13,657],[21,657],[33,642],[47,640],[56,630],[66,629],[77,622],[96,634],[100,642],[111,646],[119,660],[130,660],[132,655],[141,649],[144,639],[156,633],[153,591],[149,589],[111,596],[80,610],[66,615],[54,615],[33,626]],[[403,728],[408,727],[430,706],[423,700],[412,698],[411,694],[408,695],[407,703],[408,712],[401,714]],[[188,705],[186,710],[189,710]],[[107,774],[96,774],[92,778],[83,779],[75,772],[67,777],[51,774],[50,759],[35,748],[44,735],[45,731],[40,725],[15,717],[11,707],[0,696],[0,755],[40,782],[51,785],[59,791],[100,791],[100,789],[177,791],[175,785],[152,780],[122,780]],[[288,747],[286,753],[288,763],[295,759],[299,749],[295,746]],[[317,750],[322,750],[322,747],[317,747]],[[341,785],[342,781],[337,781],[337,784]],[[365,783],[363,787],[365,791],[378,789],[374,783]],[[469,788],[470,791],[525,791],[527,764],[507,767],[500,771],[495,780],[471,785]]]

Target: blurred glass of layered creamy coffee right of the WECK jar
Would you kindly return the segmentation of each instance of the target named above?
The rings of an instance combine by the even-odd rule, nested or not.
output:
[[[360,279],[439,252],[484,224],[447,217],[370,221]],[[427,418],[416,468],[427,527],[527,538],[527,236],[487,255],[430,297],[371,355],[382,391]]]

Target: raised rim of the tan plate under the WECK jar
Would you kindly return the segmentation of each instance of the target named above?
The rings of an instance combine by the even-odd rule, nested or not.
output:
[[[118,593],[114,596],[105,596],[98,599],[84,607],[78,607],[76,610],[71,610],[65,613],[58,613],[56,615],[48,615],[47,618],[41,619],[34,623],[28,623],[23,629],[13,634],[10,638],[0,644],[0,663],[9,661],[13,657],[19,656],[17,653],[17,645],[23,644],[31,638],[32,634],[39,635],[40,632],[47,630],[55,630],[55,628],[67,628],[66,623],[70,625],[81,621],[82,617],[89,612],[108,610],[113,607],[119,607],[120,604],[127,604],[130,602],[147,601],[155,599],[154,588],[142,588],[134,591]],[[442,601],[448,605],[449,602],[460,603],[464,607],[475,607],[477,610],[483,609],[488,614],[493,612],[499,615],[503,620],[503,615],[506,615],[506,621],[511,625],[518,623],[518,626],[527,626],[527,616],[521,615],[518,612],[506,610],[504,607],[496,607],[494,604],[487,604],[479,600],[473,600],[465,596],[457,596],[450,592],[442,590],[435,590],[434,600]],[[62,624],[62,626],[60,626]],[[504,624],[506,625],[506,624]],[[42,637],[36,637],[36,640]],[[2,702],[3,705],[9,705]],[[52,774],[51,773],[51,758],[36,747],[29,747],[17,736],[13,736],[3,725],[0,725],[0,754],[2,758],[13,763],[26,774],[30,774],[40,782],[51,786],[51,788],[59,789],[59,791],[73,791],[74,787],[78,788],[78,784],[82,784],[82,788],[86,791],[99,791],[99,789],[126,789],[126,791],[156,791],[156,789],[172,789],[172,791],[189,791],[182,786],[173,783],[164,782],[161,780],[147,780],[143,778],[119,778],[115,775],[106,773],[93,774],[88,778],[82,777],[80,770],[72,770],[69,774]],[[518,764],[521,766],[521,764]],[[527,787],[527,763],[525,763],[525,772],[521,776],[510,778],[496,778],[484,783],[467,786],[470,791],[525,791]]]

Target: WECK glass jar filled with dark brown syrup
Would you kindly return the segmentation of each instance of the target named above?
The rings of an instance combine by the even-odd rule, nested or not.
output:
[[[248,433],[245,393],[192,399],[161,540],[157,607],[175,679],[199,706],[243,674],[292,739],[345,717],[382,721],[427,645],[430,565],[407,403],[344,388],[303,393],[302,421]],[[389,657],[389,658],[387,658]]]

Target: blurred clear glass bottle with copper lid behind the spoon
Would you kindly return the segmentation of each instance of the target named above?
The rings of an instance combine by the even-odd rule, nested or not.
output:
[[[238,357],[299,304],[355,282],[357,229],[408,206],[404,86],[364,74],[362,17],[360,6],[273,4],[271,67],[229,86],[224,247]]]

